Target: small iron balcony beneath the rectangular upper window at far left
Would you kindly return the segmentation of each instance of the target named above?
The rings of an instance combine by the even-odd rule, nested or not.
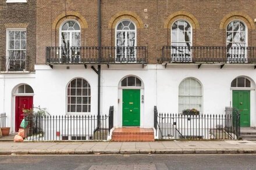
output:
[[[0,71],[27,71],[29,68],[28,57],[24,58],[10,58],[1,57],[0,58]]]

